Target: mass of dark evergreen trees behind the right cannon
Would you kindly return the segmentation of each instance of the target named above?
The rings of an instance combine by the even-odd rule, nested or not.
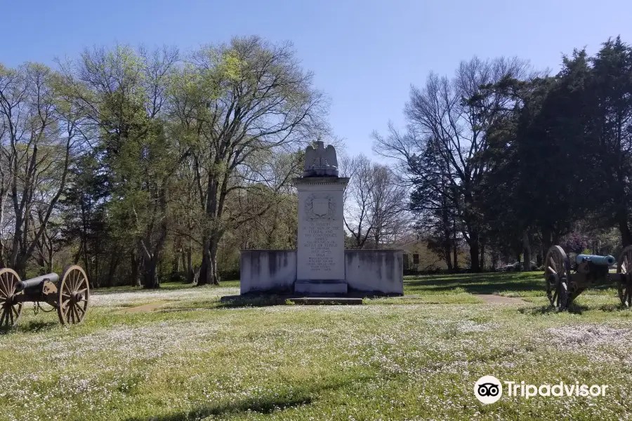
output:
[[[631,57],[620,39],[609,40],[593,58],[584,50],[565,56],[553,77],[487,87],[516,98],[496,128],[482,189],[489,233],[503,253],[522,250],[524,232],[546,250],[580,225],[617,227],[621,243],[632,241],[623,181],[632,170],[624,117],[632,115]]]

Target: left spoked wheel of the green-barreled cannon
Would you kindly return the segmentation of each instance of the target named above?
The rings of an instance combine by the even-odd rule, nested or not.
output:
[[[551,306],[565,309],[568,305],[570,262],[560,246],[553,246],[546,253],[544,281],[546,282],[546,296],[551,302]]]

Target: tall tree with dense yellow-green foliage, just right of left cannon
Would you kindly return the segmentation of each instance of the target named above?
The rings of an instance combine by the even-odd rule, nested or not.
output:
[[[115,248],[110,275],[126,250],[142,258],[145,288],[157,288],[157,265],[167,236],[169,186],[183,161],[166,134],[163,105],[178,51],[138,53],[129,46],[93,48],[81,62],[68,63],[67,91],[86,109],[86,128],[98,140],[96,159],[115,200],[108,203]],[[184,152],[185,154],[187,152]]]

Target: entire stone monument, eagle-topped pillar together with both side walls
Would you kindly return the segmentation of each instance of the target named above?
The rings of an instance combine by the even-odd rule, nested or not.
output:
[[[297,250],[242,250],[240,290],[282,296],[373,296],[404,293],[402,250],[345,250],[343,192],[332,145],[305,150],[298,191]]]

